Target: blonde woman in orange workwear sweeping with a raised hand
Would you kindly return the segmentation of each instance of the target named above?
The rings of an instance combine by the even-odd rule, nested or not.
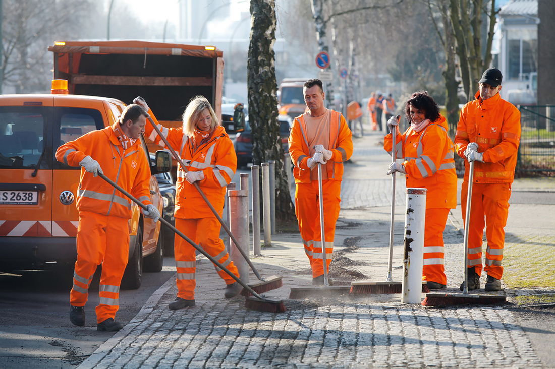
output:
[[[158,124],[144,99],[138,97],[134,102],[148,110],[171,148],[178,153],[187,166],[185,173],[178,165],[175,228],[195,244],[203,247],[206,252],[239,277],[237,267],[231,261],[225,251],[224,242],[220,239],[221,225],[218,218],[193,185],[195,182],[198,183],[206,198],[221,216],[224,209],[225,186],[235,175],[237,156],[233,143],[218,122],[210,103],[204,96],[191,99],[183,113],[183,127],[168,129]],[[165,146],[152,124],[147,125],[145,135],[155,143]],[[178,310],[195,305],[196,249],[181,237],[175,237],[174,251],[178,293],[175,301],[168,307],[171,310]],[[216,271],[225,281],[226,299],[231,299],[243,290],[243,287],[226,272],[218,267]]]

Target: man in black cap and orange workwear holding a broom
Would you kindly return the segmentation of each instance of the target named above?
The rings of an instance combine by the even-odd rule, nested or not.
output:
[[[520,112],[499,97],[503,76],[490,68],[478,81],[475,100],[461,110],[455,135],[457,154],[465,160],[461,204],[466,204],[469,161],[475,161],[468,229],[468,290],[480,288],[482,237],[486,226],[486,291],[501,290],[503,245],[517,163],[521,126]],[[462,218],[466,221],[466,207]],[[462,286],[461,286],[462,291]]]

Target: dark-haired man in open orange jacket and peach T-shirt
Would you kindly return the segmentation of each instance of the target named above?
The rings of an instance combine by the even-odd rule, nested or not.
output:
[[[352,155],[351,131],[339,112],[326,109],[322,81],[309,79],[303,87],[309,109],[295,118],[289,135],[289,154],[295,165],[295,214],[306,256],[312,267],[312,284],[324,284],[324,263],[320,232],[318,174],[322,166],[326,270],[329,269],[339,217],[343,163]]]

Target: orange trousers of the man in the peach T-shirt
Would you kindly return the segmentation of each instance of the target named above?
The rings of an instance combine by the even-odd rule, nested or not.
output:
[[[324,232],[326,247],[326,270],[329,270],[334,251],[335,223],[339,217],[341,181],[323,180]],[[324,274],[324,255],[320,230],[320,200],[318,181],[297,183],[295,189],[295,214],[299,222],[299,232],[305,246],[306,256],[312,268],[312,278]]]

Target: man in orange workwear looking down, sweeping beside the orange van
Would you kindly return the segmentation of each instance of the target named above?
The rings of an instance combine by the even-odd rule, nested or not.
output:
[[[69,294],[69,319],[74,325],[85,324],[83,306],[90,280],[102,264],[97,329],[122,328],[114,317],[119,308],[119,285],[129,259],[131,200],[97,175],[104,174],[147,205],[143,214],[158,221],[160,213],[150,203],[150,165],[138,140],[147,117],[139,105],[128,105],[119,122],[69,141],[56,151],[61,163],[83,167],[77,191],[77,261]]]

